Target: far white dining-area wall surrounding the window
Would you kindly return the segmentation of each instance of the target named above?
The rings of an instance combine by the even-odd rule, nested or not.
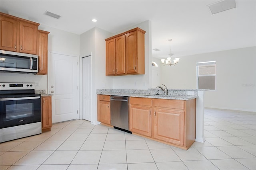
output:
[[[216,61],[216,90],[205,93],[205,107],[256,111],[256,47],[180,57],[162,66],[168,88],[196,88],[196,63]]]

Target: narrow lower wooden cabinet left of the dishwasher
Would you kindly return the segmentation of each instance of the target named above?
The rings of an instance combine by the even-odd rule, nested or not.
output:
[[[110,96],[98,95],[98,121],[110,125]]]

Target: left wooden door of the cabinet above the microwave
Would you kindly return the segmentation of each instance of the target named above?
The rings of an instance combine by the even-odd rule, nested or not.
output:
[[[1,16],[1,50],[17,51],[17,20]]]

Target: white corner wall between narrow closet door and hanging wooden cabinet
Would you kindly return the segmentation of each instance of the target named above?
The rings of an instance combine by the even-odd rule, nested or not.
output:
[[[80,72],[82,72],[82,57],[92,56],[92,122],[97,122],[96,89],[112,88],[112,77],[106,76],[106,42],[110,33],[94,27],[80,35]],[[80,75],[82,80],[82,75]],[[103,87],[104,86],[104,87]],[[82,82],[80,82],[82,88]],[[80,89],[82,90],[82,89]],[[80,94],[82,92],[80,91]],[[82,111],[82,96],[80,96],[80,111]]]

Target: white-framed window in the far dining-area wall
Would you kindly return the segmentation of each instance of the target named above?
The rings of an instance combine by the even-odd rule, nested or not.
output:
[[[196,63],[197,88],[216,89],[216,61]]]

